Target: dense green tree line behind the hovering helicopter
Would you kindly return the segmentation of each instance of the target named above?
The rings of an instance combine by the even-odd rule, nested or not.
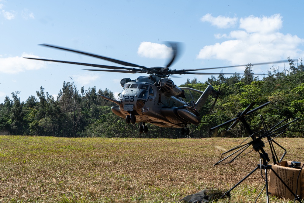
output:
[[[252,73],[252,65],[247,65],[244,73]],[[214,89],[221,87],[221,95],[212,110],[214,98],[209,97],[201,110],[201,124],[190,126],[190,137],[203,138],[212,136],[247,136],[244,127],[238,124],[226,131],[229,126],[223,126],[216,131],[209,129],[232,119],[244,110],[251,102],[254,107],[268,101],[272,103],[254,114],[247,116],[247,121],[253,130],[260,130],[263,115],[267,124],[275,124],[283,118],[300,117],[284,136],[303,137],[304,127],[304,65],[295,64],[289,59],[289,68],[281,72],[273,67],[262,76],[235,74],[230,77],[212,76],[202,83],[196,79],[185,82],[183,87],[204,90],[209,84]],[[177,138],[180,129],[159,128],[147,124],[148,134],[138,132],[138,124],[126,124],[124,119],[111,112],[113,103],[102,99],[103,94],[113,97],[109,89],[96,87],[80,92],[72,82],[64,82],[57,99],[45,93],[44,88],[36,91],[37,97],[29,96],[26,102],[21,102],[19,92],[12,93],[12,99],[5,97],[0,104],[0,134],[6,135],[40,135],[60,137],[150,137]],[[195,95],[194,96],[199,96]],[[188,93],[188,97],[191,98]],[[196,98],[197,99],[197,98]],[[190,100],[190,99],[189,99]]]

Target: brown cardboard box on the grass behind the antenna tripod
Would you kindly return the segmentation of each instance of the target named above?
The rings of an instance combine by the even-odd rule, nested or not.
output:
[[[304,198],[304,168],[296,169],[288,167],[291,164],[291,161],[282,161],[277,165],[271,165],[272,169],[282,178],[286,185],[300,198]],[[304,163],[301,163],[301,167]],[[301,174],[299,176],[299,173]],[[297,179],[298,180],[298,189],[297,189]],[[297,192],[296,192],[297,190]],[[293,200],[294,195],[285,187],[285,185],[278,179],[278,177],[270,170],[269,175],[269,194],[275,195],[277,197],[286,198]]]

